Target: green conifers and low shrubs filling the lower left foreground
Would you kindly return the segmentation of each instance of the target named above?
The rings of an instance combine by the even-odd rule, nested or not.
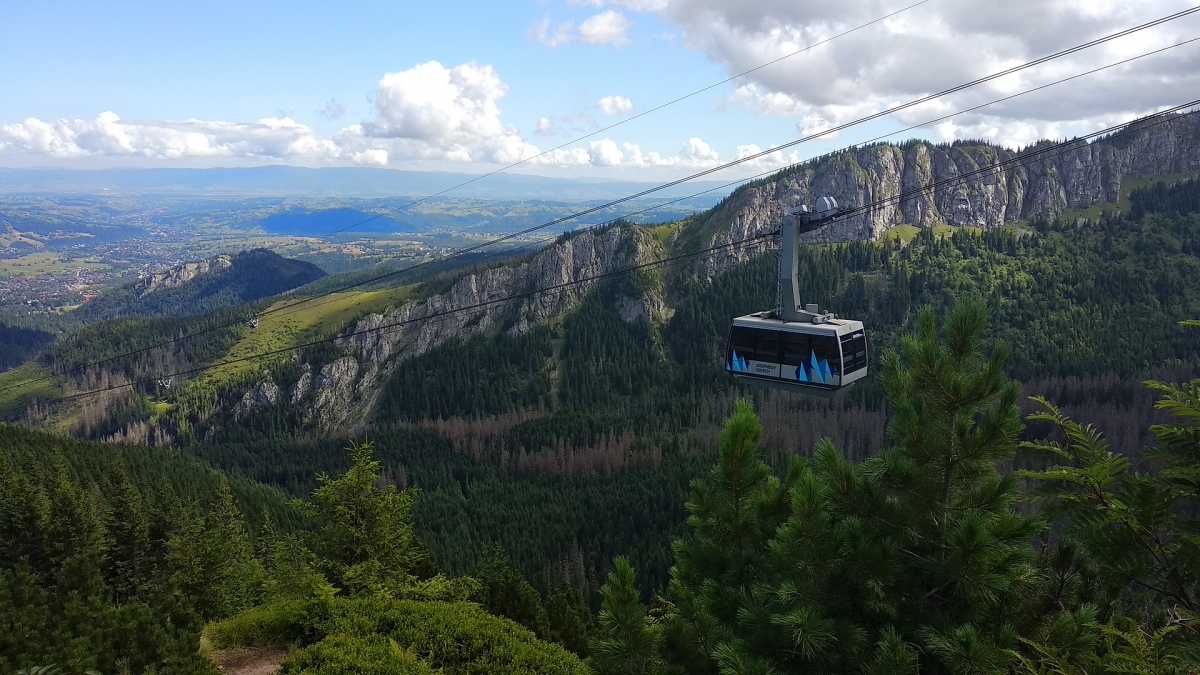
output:
[[[296,504],[310,528],[263,508],[252,542],[229,483],[194,460],[10,426],[0,441],[0,671],[208,675],[205,621],[217,646],[301,645],[294,671],[582,671],[563,647],[463,602],[480,584],[432,567],[413,534],[416,492],[376,485],[370,443]],[[569,631],[581,605],[568,602],[547,634],[586,641]]]

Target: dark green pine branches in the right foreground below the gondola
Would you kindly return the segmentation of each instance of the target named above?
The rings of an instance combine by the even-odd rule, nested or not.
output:
[[[1162,468],[1129,471],[1056,408],[1064,464],[1024,472],[1007,347],[986,312],[923,312],[883,357],[889,444],[854,465],[828,442],[776,478],[739,402],[692,484],[666,597],[642,604],[623,558],[601,590],[596,673],[1175,675],[1200,668],[1200,381],[1151,383],[1181,423],[1152,428]],[[1063,536],[1042,536],[1056,525]],[[1040,546],[1034,544],[1040,542]]]

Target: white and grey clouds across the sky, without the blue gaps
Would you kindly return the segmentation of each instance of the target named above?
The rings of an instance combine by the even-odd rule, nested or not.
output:
[[[734,74],[851,31],[912,1],[568,0],[590,7],[590,16],[576,24],[574,19],[556,22],[547,14],[527,38],[547,48],[613,49],[636,41],[631,30],[637,22],[656,20],[660,28],[665,24],[678,31],[683,48]],[[1200,0],[926,0],[739,78],[715,103],[718,108],[737,107],[755,115],[794,120],[796,135],[811,135],[1196,4]],[[1196,35],[1200,14],[896,113],[892,123],[924,123]],[[1193,96],[1190,92],[1200,90],[1198,58],[1200,43],[1188,44],[965,114],[929,133],[946,141],[984,138],[1009,147],[1086,133]],[[587,109],[613,121],[598,123],[589,113],[541,117],[526,136],[502,117],[499,103],[509,90],[493,65],[468,61],[446,67],[427,61],[385,73],[373,91],[367,118],[334,133],[320,133],[282,113],[242,124],[127,120],[116,112],[103,112],[95,119],[0,123],[0,156],[58,162],[127,157],[142,163],[191,160],[379,167],[421,162],[494,167],[526,161],[544,167],[680,171],[708,168],[722,160],[698,137],[689,138],[674,153],[643,150],[636,143],[608,137],[545,151],[577,136],[580,129],[599,129],[632,114],[634,102],[612,94],[594,100]],[[647,109],[659,101],[638,103]],[[331,98],[317,117],[335,121],[350,115]],[[738,145],[733,157],[761,150],[754,144]],[[770,169],[798,159],[794,151],[776,151],[744,168]]]

